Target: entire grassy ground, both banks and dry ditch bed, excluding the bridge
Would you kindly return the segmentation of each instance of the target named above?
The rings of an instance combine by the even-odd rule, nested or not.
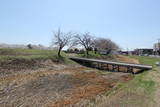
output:
[[[156,66],[138,75],[113,73],[81,66],[62,54],[59,59],[56,51],[1,49],[0,107],[151,107],[159,102]],[[157,60],[112,59],[153,65]]]

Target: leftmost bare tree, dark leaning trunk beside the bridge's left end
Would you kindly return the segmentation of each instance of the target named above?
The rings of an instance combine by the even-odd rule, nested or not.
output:
[[[58,29],[57,32],[54,33],[54,39],[52,40],[52,46],[57,46],[58,47],[58,56],[61,56],[61,51],[62,49],[69,45],[71,42],[72,36],[74,33],[68,32],[68,33],[63,33],[60,29]]]

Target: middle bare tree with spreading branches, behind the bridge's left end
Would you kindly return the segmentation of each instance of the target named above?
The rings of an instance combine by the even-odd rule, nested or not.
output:
[[[93,46],[93,37],[90,35],[90,33],[78,34],[75,36],[75,43],[82,45],[85,48],[88,56],[89,50]]]

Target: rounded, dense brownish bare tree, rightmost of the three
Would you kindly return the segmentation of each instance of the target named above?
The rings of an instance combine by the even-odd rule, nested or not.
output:
[[[110,39],[98,38],[94,41],[94,46],[98,50],[105,50],[106,54],[119,50],[119,46]]]

